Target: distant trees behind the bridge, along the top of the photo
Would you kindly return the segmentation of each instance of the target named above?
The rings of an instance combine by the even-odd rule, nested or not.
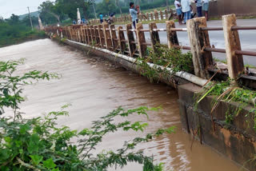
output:
[[[150,10],[166,6],[166,1],[169,5],[174,3],[174,0],[140,0],[139,5],[141,10]],[[69,24],[72,20],[77,20],[78,8],[81,16],[86,19],[95,18],[95,15],[99,18],[99,13],[104,15],[129,13],[130,2],[134,0],[103,0],[99,3],[95,3],[94,0],[55,0],[55,2],[42,2],[38,9],[41,11],[40,18],[45,24],[51,25],[57,22]],[[138,0],[136,2],[138,4]]]

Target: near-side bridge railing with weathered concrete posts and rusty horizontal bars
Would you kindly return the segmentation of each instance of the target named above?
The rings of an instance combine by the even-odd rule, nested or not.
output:
[[[74,25],[66,27],[46,27],[47,33],[57,34],[75,42],[97,46],[130,57],[146,58],[147,46],[152,50],[160,44],[159,32],[166,32],[169,48],[190,50],[193,55],[194,74],[200,78],[210,78],[209,71],[215,70],[212,52],[225,53],[229,77],[237,79],[246,74],[243,55],[256,56],[256,52],[244,51],[241,48],[238,30],[256,30],[256,26],[237,26],[234,14],[222,17],[222,27],[207,27],[206,18],[194,18],[187,22],[186,28],[176,28],[174,21],[167,21],[166,28],[158,29],[155,22],[150,22],[149,29],[143,29],[138,23],[136,30],[131,24],[123,26]],[[209,31],[222,30],[226,42],[225,49],[214,48],[210,45]],[[190,46],[180,46],[177,32],[187,32]],[[146,42],[145,33],[150,34],[150,42]],[[215,70],[215,72],[217,72]],[[218,70],[219,72],[219,70]],[[255,80],[255,78],[254,78]]]

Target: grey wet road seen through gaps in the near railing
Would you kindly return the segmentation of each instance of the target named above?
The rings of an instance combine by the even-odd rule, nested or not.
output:
[[[237,20],[238,26],[256,26],[256,19],[238,19]],[[166,28],[165,23],[158,23],[158,28]],[[207,22],[207,26],[214,27],[214,26],[222,26],[222,21],[209,21]],[[143,25],[144,29],[148,29],[148,25]],[[185,28],[185,25],[178,25],[176,23],[177,28]],[[210,35],[210,44],[214,45],[216,48],[225,49],[225,41],[224,41],[224,34],[223,31],[209,31]],[[150,42],[150,34],[145,32],[146,42]],[[160,41],[162,44],[167,43],[166,32],[159,32]],[[256,51],[256,30],[240,30],[239,36],[241,40],[242,50],[250,50]],[[180,42],[181,46],[190,46],[190,42],[188,39],[188,35],[186,32],[178,32],[178,41]],[[214,58],[218,58],[220,60],[226,60],[226,54],[220,53],[213,53]],[[244,56],[245,64],[256,66],[256,57],[249,57]]]

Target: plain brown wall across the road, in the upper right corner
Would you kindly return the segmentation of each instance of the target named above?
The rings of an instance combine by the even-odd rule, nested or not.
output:
[[[217,0],[210,2],[210,17],[225,14],[256,15],[256,0]]]

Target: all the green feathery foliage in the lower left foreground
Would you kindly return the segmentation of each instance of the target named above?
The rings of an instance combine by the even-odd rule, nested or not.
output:
[[[72,130],[67,126],[58,127],[60,116],[68,116],[65,110],[44,114],[42,117],[23,119],[24,113],[18,112],[22,97],[23,85],[34,84],[42,79],[58,78],[57,74],[49,74],[38,70],[26,74],[17,74],[18,65],[22,62],[0,62],[0,105],[14,110],[14,117],[0,118],[0,170],[83,170],[105,171],[110,167],[122,168],[128,162],[143,165],[143,171],[161,171],[162,164],[154,165],[153,157],[143,154],[134,148],[143,142],[150,141],[162,133],[173,133],[174,127],[158,129],[156,133],[148,133],[145,137],[136,137],[126,141],[114,151],[104,150],[95,154],[94,149],[102,142],[102,138],[118,130],[143,131],[147,123],[141,121],[115,120],[116,117],[129,117],[134,113],[148,117],[147,107],[122,109],[121,107],[93,121],[91,128],[82,131]],[[75,143],[71,142],[78,140]]]

